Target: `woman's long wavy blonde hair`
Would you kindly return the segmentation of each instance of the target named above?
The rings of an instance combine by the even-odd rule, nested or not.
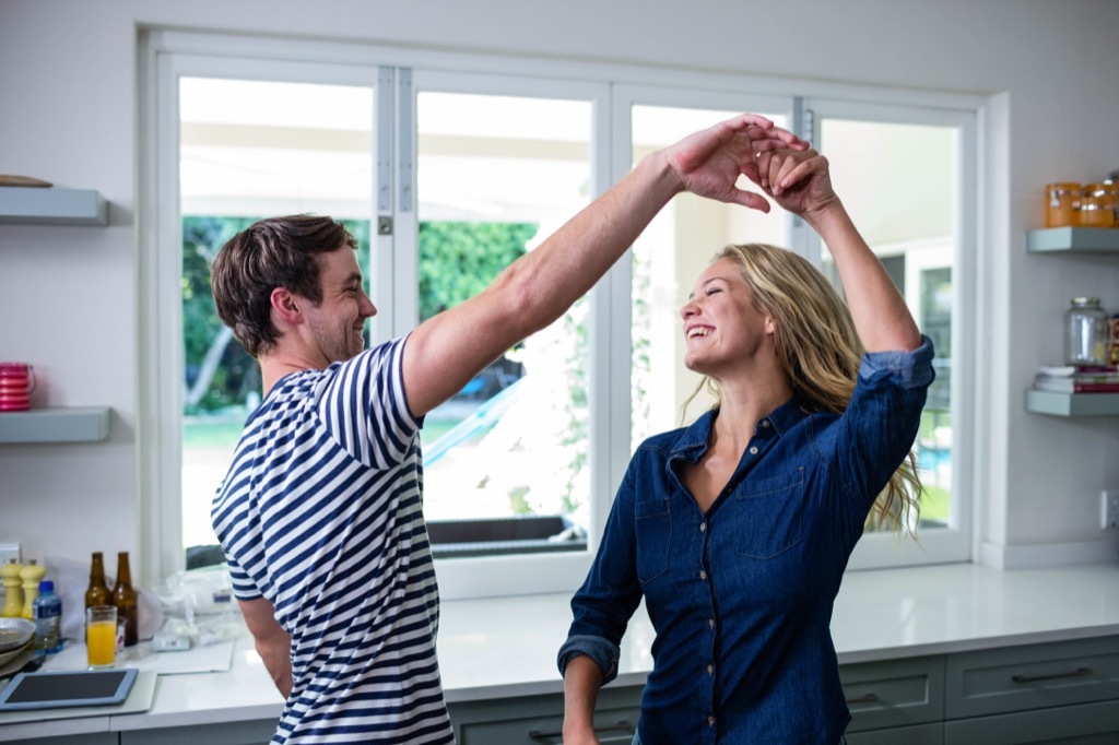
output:
[[[863,345],[847,303],[827,277],[802,256],[763,243],[727,246],[712,262],[722,258],[739,266],[754,308],[773,319],[778,361],[801,407],[809,413],[845,412],[855,392]],[[705,377],[696,393],[704,387],[718,407],[718,386]],[[920,493],[916,459],[910,451],[875,499],[867,527],[903,531],[916,525]]]

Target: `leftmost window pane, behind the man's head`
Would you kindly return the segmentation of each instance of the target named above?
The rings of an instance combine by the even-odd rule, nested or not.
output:
[[[246,415],[260,369],[214,310],[209,264],[262,217],[342,219],[368,266],[373,91],[363,87],[182,78],[182,545],[188,567],[216,544],[210,500]],[[367,277],[368,280],[368,277]]]

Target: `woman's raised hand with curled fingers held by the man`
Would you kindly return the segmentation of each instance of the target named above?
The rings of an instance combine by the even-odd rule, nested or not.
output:
[[[828,159],[816,150],[765,149],[760,143],[754,160],[758,170],[752,180],[782,209],[809,224],[839,205]]]

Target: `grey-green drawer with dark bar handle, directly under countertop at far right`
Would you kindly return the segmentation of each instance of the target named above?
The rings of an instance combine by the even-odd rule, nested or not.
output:
[[[1119,698],[1119,636],[948,656],[949,719]]]

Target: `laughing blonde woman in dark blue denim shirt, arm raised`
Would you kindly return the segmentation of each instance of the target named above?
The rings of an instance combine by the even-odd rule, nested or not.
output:
[[[827,160],[755,157],[751,179],[820,235],[848,302],[772,246],[731,246],[699,276],[685,364],[717,403],[630,462],[560,650],[566,745],[598,742],[594,702],[642,595],[657,639],[634,743],[834,745],[850,720],[831,605],[865,524],[915,509],[932,347]]]

